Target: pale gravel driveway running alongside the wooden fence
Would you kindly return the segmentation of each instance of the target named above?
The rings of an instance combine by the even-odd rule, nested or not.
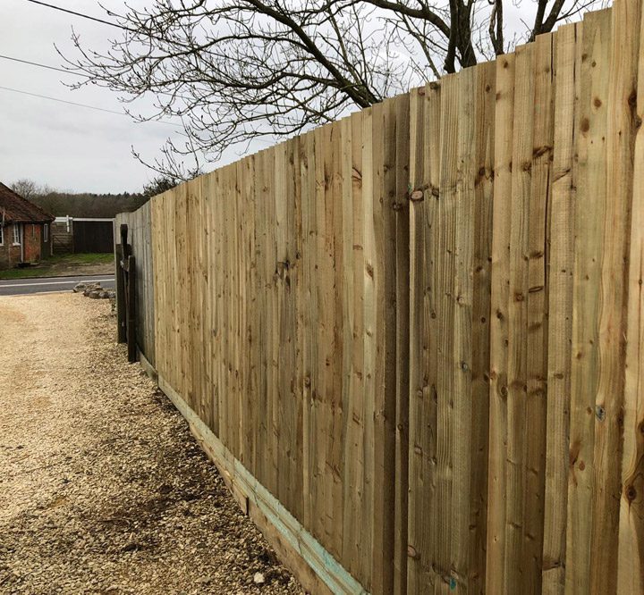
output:
[[[0,298],[0,592],[301,593],[114,325]]]

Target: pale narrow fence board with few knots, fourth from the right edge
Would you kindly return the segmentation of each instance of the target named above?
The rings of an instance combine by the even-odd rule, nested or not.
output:
[[[557,30],[548,256],[547,441],[542,590],[563,593],[570,432],[575,130],[580,78],[578,25]]]

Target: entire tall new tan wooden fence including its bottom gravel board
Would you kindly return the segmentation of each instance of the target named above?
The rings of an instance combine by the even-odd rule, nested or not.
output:
[[[641,16],[140,214],[160,386],[313,590],[644,592]]]

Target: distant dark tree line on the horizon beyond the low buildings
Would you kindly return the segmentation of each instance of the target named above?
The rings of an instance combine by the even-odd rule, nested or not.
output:
[[[115,214],[136,211],[165,190],[172,189],[179,180],[158,176],[140,192],[96,194],[92,192],[61,192],[49,186],[40,186],[33,180],[17,180],[11,184],[14,192],[27,198],[55,217],[113,218]]]

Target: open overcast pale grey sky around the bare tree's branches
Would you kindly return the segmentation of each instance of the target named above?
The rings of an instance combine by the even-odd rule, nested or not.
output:
[[[97,0],[50,0],[64,8],[108,19]],[[123,12],[123,0],[103,0],[107,8]],[[130,0],[132,6],[150,4]],[[521,19],[530,21],[534,2],[519,8],[508,3],[506,37],[521,29]],[[576,19],[577,20],[577,19]],[[106,48],[108,38],[120,33],[104,24],[60,13],[25,0],[0,0],[0,54],[61,66],[54,44],[73,55],[72,25],[84,46]],[[128,116],[104,113],[75,105],[24,95],[17,91],[51,96],[65,101],[123,112],[117,96],[106,88],[72,91],[63,81],[74,78],[24,63],[0,59],[0,181],[9,184],[28,178],[55,189],[87,192],[138,191],[153,177],[131,155],[133,146],[153,162],[165,138],[179,138],[181,129],[161,122],[133,122]],[[140,105],[145,113],[148,105]],[[150,112],[148,112],[150,113]],[[178,122],[177,122],[178,123]],[[265,147],[264,144],[251,150]],[[226,161],[233,161],[231,152]]]

